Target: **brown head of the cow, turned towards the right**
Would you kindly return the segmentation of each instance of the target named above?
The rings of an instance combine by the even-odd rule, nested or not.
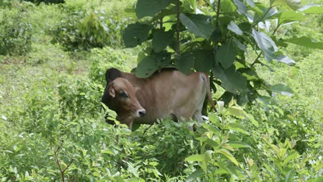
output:
[[[106,86],[101,99],[110,110],[117,112],[117,120],[128,125],[130,129],[134,118],[144,117],[146,114],[146,110],[137,100],[136,91],[127,79],[119,77]]]

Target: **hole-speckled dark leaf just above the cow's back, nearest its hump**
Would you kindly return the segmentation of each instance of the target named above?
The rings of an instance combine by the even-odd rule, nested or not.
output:
[[[135,74],[139,78],[150,77],[155,71],[170,65],[170,53],[160,52],[159,54],[151,54],[144,57],[138,63]]]

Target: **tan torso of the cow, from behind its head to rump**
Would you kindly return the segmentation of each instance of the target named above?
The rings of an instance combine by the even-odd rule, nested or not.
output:
[[[189,119],[196,110],[202,110],[206,87],[201,75],[194,72],[188,76],[177,70],[163,70],[147,79],[130,82],[137,85],[139,103],[147,111],[146,116],[136,119],[136,123],[153,123],[175,115]],[[129,76],[129,75],[128,75]],[[133,79],[133,78],[130,78]]]

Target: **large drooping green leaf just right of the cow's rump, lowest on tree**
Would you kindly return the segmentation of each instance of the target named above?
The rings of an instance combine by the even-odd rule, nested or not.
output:
[[[247,79],[235,70],[235,65],[224,70],[216,65],[213,69],[215,78],[221,80],[221,86],[228,92],[238,94],[246,89]]]

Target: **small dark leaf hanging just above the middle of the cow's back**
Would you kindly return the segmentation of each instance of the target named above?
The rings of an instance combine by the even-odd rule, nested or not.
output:
[[[190,74],[192,72],[190,69],[193,67],[194,56],[190,52],[184,52],[182,57],[176,60],[176,68],[184,74]]]

